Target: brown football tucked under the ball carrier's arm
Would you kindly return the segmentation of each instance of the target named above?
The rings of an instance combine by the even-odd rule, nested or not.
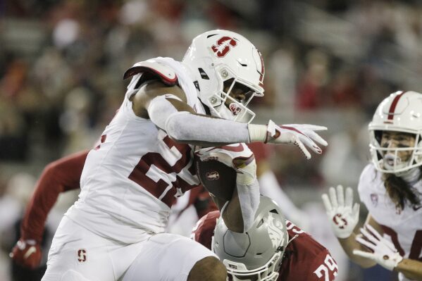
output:
[[[195,168],[201,184],[213,196],[228,201],[236,187],[236,171],[216,160],[201,161],[194,158]]]

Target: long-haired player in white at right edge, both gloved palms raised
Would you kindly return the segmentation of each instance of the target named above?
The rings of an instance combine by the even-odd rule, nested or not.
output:
[[[422,280],[422,94],[395,92],[384,99],[368,126],[372,163],[359,179],[359,197],[368,209],[354,232],[359,204],[352,188],[323,194],[335,235],[355,263],[381,266],[399,280]]]

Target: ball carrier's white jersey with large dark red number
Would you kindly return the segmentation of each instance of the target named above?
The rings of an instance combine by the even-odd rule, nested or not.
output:
[[[154,61],[175,71],[187,103],[204,114],[182,63],[161,57]],[[164,232],[175,198],[199,185],[193,152],[193,146],[174,142],[151,120],[137,117],[125,97],[101,144],[89,151],[79,200],[66,216],[97,235],[123,243]]]

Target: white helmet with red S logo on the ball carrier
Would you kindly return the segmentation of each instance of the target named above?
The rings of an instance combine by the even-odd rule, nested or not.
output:
[[[254,119],[247,105],[254,96],[263,96],[264,66],[248,39],[227,30],[204,32],[192,40],[182,63],[194,75],[199,99],[211,115],[244,123]],[[234,87],[248,92],[243,101],[229,96]]]

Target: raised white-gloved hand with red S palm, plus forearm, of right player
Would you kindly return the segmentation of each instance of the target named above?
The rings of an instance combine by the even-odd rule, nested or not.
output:
[[[363,268],[375,266],[376,262],[353,254],[356,249],[364,250],[364,246],[356,241],[354,232],[354,227],[359,221],[359,204],[353,204],[352,188],[347,187],[345,193],[342,185],[338,185],[336,188],[330,187],[328,194],[323,194],[322,199],[334,235],[347,256]],[[375,223],[375,220],[371,221],[371,224]]]

